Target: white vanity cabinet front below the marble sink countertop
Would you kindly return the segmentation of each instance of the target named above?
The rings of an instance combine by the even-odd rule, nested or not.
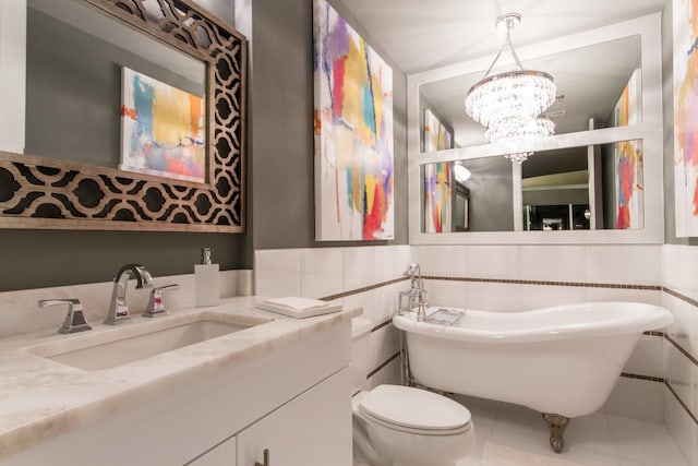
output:
[[[272,466],[351,466],[350,326],[323,321],[86,404],[0,466],[255,466],[265,449]]]

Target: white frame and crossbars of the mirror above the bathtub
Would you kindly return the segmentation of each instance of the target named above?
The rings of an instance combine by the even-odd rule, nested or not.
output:
[[[627,36],[640,36],[642,75],[642,121],[639,124],[576,133],[556,134],[530,143],[483,144],[432,153],[420,153],[420,86],[488,69],[493,56],[447,65],[407,77],[408,108],[408,187],[410,244],[586,244],[586,243],[659,243],[664,238],[663,214],[663,118],[661,13],[652,13],[529,47],[517,48],[522,62],[528,59],[565,52]],[[553,76],[554,77],[554,76]],[[465,100],[465,96],[464,100]],[[465,113],[465,107],[464,107]],[[484,129],[483,129],[484,131]],[[501,157],[518,151],[545,151],[598,145],[625,140],[642,140],[645,154],[645,228],[627,230],[568,231],[467,231],[425,234],[420,179],[421,166],[478,157]],[[521,167],[512,164],[514,174],[514,220],[521,225]],[[517,194],[518,193],[518,194]]]

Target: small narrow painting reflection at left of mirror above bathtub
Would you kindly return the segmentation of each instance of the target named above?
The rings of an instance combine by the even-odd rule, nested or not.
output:
[[[452,230],[450,166],[448,162],[424,167],[424,232]]]

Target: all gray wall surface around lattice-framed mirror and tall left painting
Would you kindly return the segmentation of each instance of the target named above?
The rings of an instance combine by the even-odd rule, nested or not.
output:
[[[221,270],[251,268],[253,250],[407,243],[407,80],[394,72],[395,240],[316,242],[313,198],[311,0],[254,0],[240,17],[233,0],[198,0],[228,23],[252,24],[248,85],[246,234],[0,229],[0,291],[111,279],[120,265],[144,263],[155,275],[188,274],[200,250]],[[249,4],[250,4],[249,3]],[[344,5],[332,2],[390,63]],[[390,63],[393,64],[393,63]]]

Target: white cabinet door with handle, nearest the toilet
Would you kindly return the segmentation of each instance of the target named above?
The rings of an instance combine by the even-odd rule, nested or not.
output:
[[[351,466],[350,391],[345,368],[238,433],[238,466]]]

